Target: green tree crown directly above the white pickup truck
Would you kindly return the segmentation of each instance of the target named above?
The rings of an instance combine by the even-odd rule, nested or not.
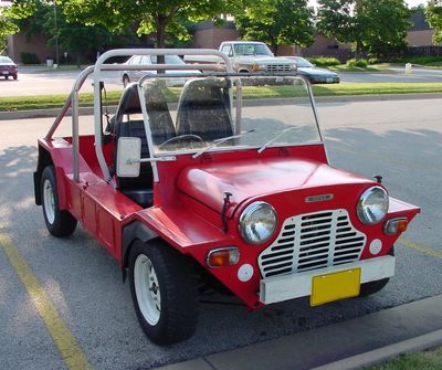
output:
[[[282,44],[309,46],[314,42],[314,10],[307,0],[262,0],[235,13],[244,39],[267,43],[273,52]]]

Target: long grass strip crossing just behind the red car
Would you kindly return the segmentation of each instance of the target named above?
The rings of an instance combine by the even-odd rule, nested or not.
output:
[[[350,95],[383,95],[383,94],[417,94],[442,93],[442,83],[370,83],[370,84],[334,84],[314,85],[315,96],[350,96]],[[172,101],[178,101],[180,88],[169,88]],[[106,105],[118,104],[122,91],[107,92]],[[293,88],[287,86],[253,87],[244,86],[244,98],[278,98],[292,97]],[[0,112],[60,108],[66,95],[35,95],[0,97]],[[80,106],[92,106],[93,95],[81,94]]]

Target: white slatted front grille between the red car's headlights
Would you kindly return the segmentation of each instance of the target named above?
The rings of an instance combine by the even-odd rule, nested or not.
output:
[[[340,265],[358,261],[366,240],[346,210],[301,214],[284,221],[257,262],[263,277]]]

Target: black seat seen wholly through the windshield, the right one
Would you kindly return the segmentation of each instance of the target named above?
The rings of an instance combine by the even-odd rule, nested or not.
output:
[[[228,82],[196,78],[182,87],[177,113],[177,135],[198,135],[212,141],[233,135]]]

